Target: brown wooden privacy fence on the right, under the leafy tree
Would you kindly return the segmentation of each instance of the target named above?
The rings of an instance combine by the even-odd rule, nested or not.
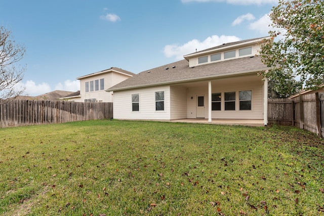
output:
[[[293,99],[269,99],[268,123],[295,125],[324,136],[324,93],[299,95]]]

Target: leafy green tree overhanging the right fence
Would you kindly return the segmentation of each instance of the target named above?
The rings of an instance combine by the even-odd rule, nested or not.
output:
[[[261,74],[275,82],[281,91],[294,77],[300,83],[291,85],[291,92],[300,88],[317,89],[324,80],[324,1],[279,0],[270,19],[271,40],[261,45],[261,59],[268,67]]]

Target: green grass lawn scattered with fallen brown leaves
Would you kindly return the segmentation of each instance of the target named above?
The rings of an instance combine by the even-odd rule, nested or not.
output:
[[[0,215],[323,215],[295,127],[96,120],[0,128]]]

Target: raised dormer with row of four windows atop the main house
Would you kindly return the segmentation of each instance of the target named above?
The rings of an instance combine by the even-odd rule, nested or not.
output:
[[[264,40],[268,39],[270,39],[270,37],[260,37],[230,42],[217,47],[185,55],[184,58],[189,62],[189,67],[195,67],[237,58],[256,56],[260,54],[260,44]]]

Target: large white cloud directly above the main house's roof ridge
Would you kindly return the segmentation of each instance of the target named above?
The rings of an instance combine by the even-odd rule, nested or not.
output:
[[[183,59],[184,55],[194,53],[197,51],[205,50],[211,47],[216,47],[218,45],[240,40],[236,36],[226,36],[226,35],[213,35],[206,38],[204,41],[199,41],[197,39],[190,40],[184,45],[173,44],[164,47],[163,53],[166,57],[176,57],[177,60]]]

